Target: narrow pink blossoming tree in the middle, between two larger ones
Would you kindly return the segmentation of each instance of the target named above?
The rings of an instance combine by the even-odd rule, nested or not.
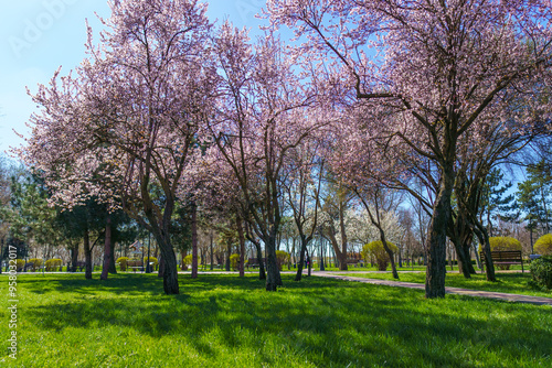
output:
[[[215,48],[222,98],[217,120],[211,125],[216,145],[211,154],[232,169],[245,203],[244,218],[266,249],[266,290],[276,291],[282,285],[276,240],[283,216],[283,169],[289,152],[316,126],[306,110],[308,85],[299,83],[294,57],[284,54],[272,34],[252,46],[245,31],[225,23]]]

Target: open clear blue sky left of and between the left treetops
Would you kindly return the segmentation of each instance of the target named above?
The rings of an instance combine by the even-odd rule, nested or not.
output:
[[[95,12],[108,18],[107,0],[0,0],[0,152],[23,143],[13,129],[28,134],[25,121],[35,105],[26,94],[38,84],[47,84],[57,67],[62,74],[83,59],[85,20],[97,34],[102,24]],[[265,0],[213,0],[212,21],[229,18],[236,26],[258,30]]]

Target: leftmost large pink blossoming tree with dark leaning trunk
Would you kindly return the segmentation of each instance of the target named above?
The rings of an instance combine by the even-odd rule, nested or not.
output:
[[[216,87],[211,24],[197,0],[110,1],[107,31],[76,69],[33,96],[42,113],[20,151],[45,172],[66,205],[113,198],[151,231],[164,263],[163,289],[178,294],[170,242],[176,193],[201,140]],[[160,191],[156,191],[160,188]]]

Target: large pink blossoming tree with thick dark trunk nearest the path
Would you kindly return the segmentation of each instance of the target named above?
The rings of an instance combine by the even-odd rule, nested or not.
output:
[[[426,297],[443,297],[459,139],[488,117],[512,118],[505,98],[538,93],[548,80],[550,2],[268,0],[267,10],[273,24],[306,37],[300,53],[318,51],[332,83],[359,105],[385,107],[380,134],[434,164]],[[522,106],[513,118],[529,125],[542,109],[542,100]]]

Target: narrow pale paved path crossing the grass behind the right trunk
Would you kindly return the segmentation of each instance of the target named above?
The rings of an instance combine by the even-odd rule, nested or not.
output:
[[[343,273],[343,272],[339,272],[339,273]],[[327,272],[327,271],[314,271],[312,275],[317,275],[317,277],[321,277],[321,278],[329,278],[329,279],[346,280],[346,281],[363,282],[363,283],[370,283],[370,284],[374,284],[374,285],[385,285],[385,286],[425,290],[424,284],[414,283],[414,282],[365,279],[365,278],[358,278],[358,277],[351,277],[351,275],[336,274],[333,272]],[[461,289],[461,288],[445,288],[445,289],[446,289],[447,294],[478,296],[478,297],[487,297],[487,299],[493,299],[493,300],[500,300],[500,301],[507,301],[507,302],[529,303],[529,304],[535,304],[535,305],[550,305],[550,306],[552,306],[552,297],[508,294],[508,293],[498,293],[498,292],[492,292],[492,291],[468,290],[468,289]]]

